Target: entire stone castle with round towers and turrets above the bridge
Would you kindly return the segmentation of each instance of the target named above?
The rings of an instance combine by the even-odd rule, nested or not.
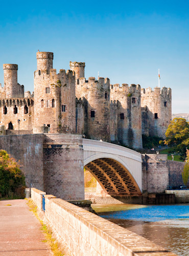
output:
[[[85,63],[53,69],[53,53],[37,52],[34,92],[17,82],[18,66],[4,64],[1,134],[72,133],[142,148],[142,134],[164,137],[171,121],[171,89],[141,89],[84,77]]]

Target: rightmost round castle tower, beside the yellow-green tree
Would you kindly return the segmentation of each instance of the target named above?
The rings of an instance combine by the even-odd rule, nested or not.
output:
[[[164,134],[172,118],[171,89],[166,87],[162,89],[156,87],[154,91],[151,88],[141,89],[141,106],[146,107],[149,135],[165,138]]]

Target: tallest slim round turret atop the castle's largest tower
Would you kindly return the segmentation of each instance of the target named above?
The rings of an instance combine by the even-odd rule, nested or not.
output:
[[[37,52],[37,70],[47,70],[53,68],[53,52]]]

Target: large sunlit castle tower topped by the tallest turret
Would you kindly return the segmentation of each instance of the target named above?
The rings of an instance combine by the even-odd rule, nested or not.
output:
[[[43,125],[49,133],[75,133],[76,93],[73,71],[53,67],[53,53],[38,52],[34,72],[34,133],[40,133]]]

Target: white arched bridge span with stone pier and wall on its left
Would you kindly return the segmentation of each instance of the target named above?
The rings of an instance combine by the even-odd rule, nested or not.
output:
[[[64,200],[85,198],[83,167],[106,195],[141,195],[141,155],[129,148],[75,134],[0,136],[0,148],[20,161],[28,187]]]

